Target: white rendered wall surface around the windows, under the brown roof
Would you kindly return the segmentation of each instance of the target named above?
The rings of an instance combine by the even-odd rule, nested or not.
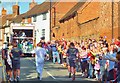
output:
[[[35,30],[36,30],[36,44],[40,41],[40,38],[42,37],[42,29],[45,29],[45,41],[50,40],[50,13],[47,13],[47,19],[43,20],[43,15],[37,15],[36,22],[33,22],[32,17],[32,23],[35,24]]]

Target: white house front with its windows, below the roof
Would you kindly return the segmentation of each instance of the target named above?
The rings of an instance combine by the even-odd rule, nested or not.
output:
[[[40,42],[41,37],[45,37],[46,42],[50,41],[50,12],[33,16],[32,23],[35,24],[36,43]]]

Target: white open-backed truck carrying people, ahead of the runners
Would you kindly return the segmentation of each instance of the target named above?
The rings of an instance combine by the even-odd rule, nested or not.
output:
[[[32,55],[35,47],[35,25],[31,23],[12,23],[10,42],[16,40],[25,56]]]

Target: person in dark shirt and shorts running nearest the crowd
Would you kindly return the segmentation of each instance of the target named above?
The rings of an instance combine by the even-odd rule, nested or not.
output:
[[[67,56],[68,56],[68,62],[69,62],[69,66],[70,66],[70,70],[69,71],[69,78],[72,75],[72,80],[75,80],[75,71],[76,71],[76,60],[77,57],[79,55],[79,51],[77,48],[75,48],[75,45],[73,42],[70,43],[70,47],[67,50]]]

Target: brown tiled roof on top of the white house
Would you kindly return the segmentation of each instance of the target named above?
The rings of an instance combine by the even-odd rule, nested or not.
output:
[[[51,2],[51,6],[55,4],[55,2]],[[47,12],[50,9],[50,2],[43,2],[42,4],[34,6],[31,10],[26,12],[25,17],[31,17],[34,15],[42,14]]]

